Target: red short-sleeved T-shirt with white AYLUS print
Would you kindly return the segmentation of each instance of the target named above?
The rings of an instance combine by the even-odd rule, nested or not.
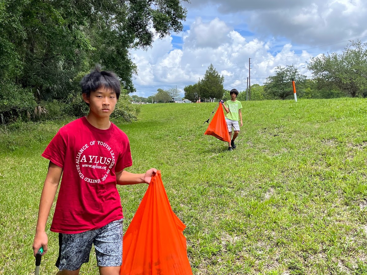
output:
[[[75,234],[123,218],[116,173],[132,165],[127,135],[85,117],[63,126],[42,154],[63,168],[51,231]]]

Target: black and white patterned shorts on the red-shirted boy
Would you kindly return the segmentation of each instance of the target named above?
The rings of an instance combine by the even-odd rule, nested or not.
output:
[[[56,267],[60,270],[77,270],[88,263],[94,244],[97,265],[116,267],[122,264],[123,219],[77,234],[59,233],[59,257]]]

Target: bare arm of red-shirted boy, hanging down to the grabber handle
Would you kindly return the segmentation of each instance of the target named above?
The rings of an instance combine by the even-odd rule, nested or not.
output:
[[[43,247],[43,253],[47,252],[47,234],[46,223],[50,214],[52,203],[54,202],[57,187],[59,186],[62,168],[56,164],[48,164],[47,176],[43,185],[40,206],[38,210],[38,220],[36,225],[36,234],[33,241],[33,253],[36,255],[40,247]]]

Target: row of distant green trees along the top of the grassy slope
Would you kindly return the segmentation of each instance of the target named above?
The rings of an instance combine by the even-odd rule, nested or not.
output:
[[[237,99],[292,99],[292,79],[295,81],[298,98],[327,99],[344,96],[367,96],[367,43],[359,40],[347,45],[342,54],[323,54],[312,58],[306,68],[312,78],[300,74],[294,65],[276,67],[264,85],[254,84],[250,89],[240,91]],[[223,90],[224,77],[211,65],[203,80],[184,88],[185,98],[229,100],[229,90]],[[236,88],[236,87],[233,87]]]

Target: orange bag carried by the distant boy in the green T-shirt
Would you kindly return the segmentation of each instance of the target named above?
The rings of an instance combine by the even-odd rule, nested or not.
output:
[[[230,136],[226,124],[226,119],[224,117],[224,111],[221,104],[219,104],[219,107],[215,112],[214,117],[211,120],[204,135],[215,136],[219,140],[230,142]]]

